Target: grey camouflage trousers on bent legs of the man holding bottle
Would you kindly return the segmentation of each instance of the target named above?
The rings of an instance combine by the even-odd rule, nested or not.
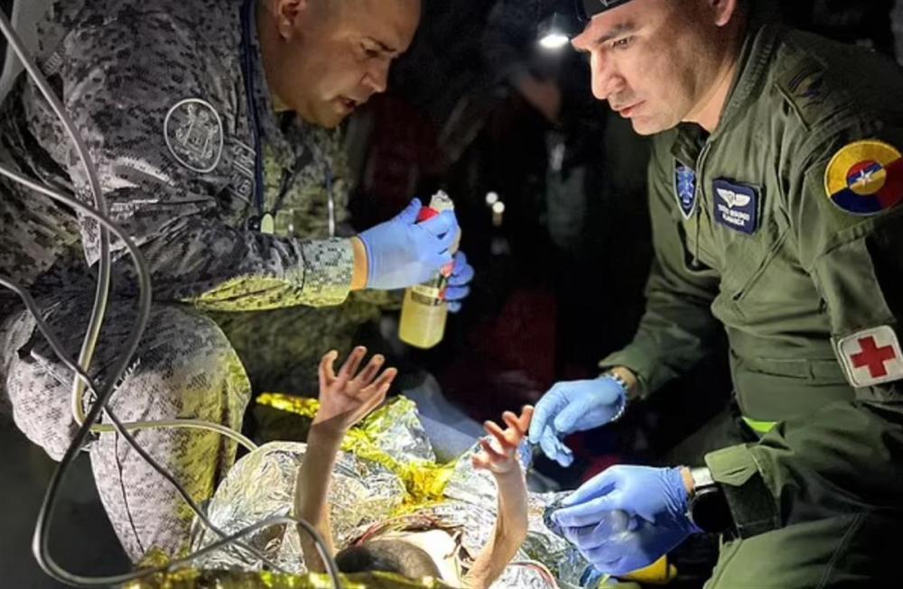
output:
[[[45,320],[71,357],[78,354],[92,303],[90,290],[41,301]],[[135,320],[132,299],[114,299],[111,309],[91,371],[97,382],[108,378]],[[28,313],[7,319],[0,344],[0,378],[16,425],[61,459],[77,430],[70,413],[72,373],[34,330]],[[193,418],[238,429],[250,394],[244,368],[219,327],[189,307],[161,305],[153,309],[110,408],[124,422]],[[197,501],[212,495],[235,458],[235,444],[215,433],[155,429],[135,432],[135,438]],[[117,434],[101,434],[89,452],[100,498],[126,554],[137,560],[152,547],[180,552],[193,513],[172,485]]]

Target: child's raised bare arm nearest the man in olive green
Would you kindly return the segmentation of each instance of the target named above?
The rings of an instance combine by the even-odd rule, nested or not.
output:
[[[498,518],[489,543],[479,552],[473,566],[464,576],[468,589],[487,589],[526,539],[527,504],[524,471],[517,462],[517,446],[526,437],[533,417],[533,408],[525,407],[520,417],[506,411],[502,416],[507,428],[502,430],[491,421],[485,424],[486,431],[494,438],[495,444],[480,440],[482,451],[473,457],[475,468],[488,470],[498,485]]]

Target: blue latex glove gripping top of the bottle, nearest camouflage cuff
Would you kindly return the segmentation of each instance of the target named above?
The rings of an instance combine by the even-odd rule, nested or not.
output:
[[[423,205],[416,198],[395,218],[358,235],[367,249],[367,288],[405,289],[433,278],[452,263],[449,248],[460,231],[452,211],[417,223]]]

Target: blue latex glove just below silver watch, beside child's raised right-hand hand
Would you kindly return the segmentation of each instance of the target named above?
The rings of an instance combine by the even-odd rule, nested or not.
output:
[[[561,438],[598,428],[618,415],[627,391],[608,376],[593,381],[559,382],[536,403],[530,422],[530,443],[562,466],[573,463],[573,452]]]

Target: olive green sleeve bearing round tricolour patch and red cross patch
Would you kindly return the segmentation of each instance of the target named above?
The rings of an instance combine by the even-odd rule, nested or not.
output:
[[[843,152],[861,137],[880,139],[891,151],[861,145],[861,152]],[[868,170],[880,161],[887,165],[886,176],[862,184],[861,192],[884,187],[890,192],[882,198],[893,198],[903,183],[887,154],[901,144],[903,133],[893,130],[843,131],[805,162],[796,184],[787,180],[787,213],[800,262],[824,301],[835,354],[857,399],[780,423],[758,445],[706,456],[715,480],[724,483],[741,528],[755,529],[768,520],[790,525],[838,513],[899,509],[903,207],[869,216],[844,211],[828,197],[825,171],[838,153],[842,155],[833,170],[843,179],[857,174],[863,162]],[[838,202],[844,202],[842,196]],[[759,507],[750,510],[750,505]]]

